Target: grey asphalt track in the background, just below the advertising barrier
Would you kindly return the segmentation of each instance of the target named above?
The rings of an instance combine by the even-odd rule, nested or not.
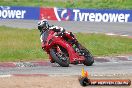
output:
[[[0,26],[37,29],[37,20],[2,20]],[[132,36],[132,23],[94,23],[94,22],[74,22],[74,21],[49,21],[50,24],[62,26],[72,32],[95,32],[114,33],[119,35]]]

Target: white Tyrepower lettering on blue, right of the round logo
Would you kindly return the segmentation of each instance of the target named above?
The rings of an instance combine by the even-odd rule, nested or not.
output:
[[[75,21],[90,22],[128,22],[129,11],[126,10],[92,10],[73,9]]]

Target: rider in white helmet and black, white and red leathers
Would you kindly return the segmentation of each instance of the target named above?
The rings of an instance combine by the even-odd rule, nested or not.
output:
[[[44,50],[45,42],[49,34],[49,30],[53,30],[56,36],[64,36],[71,40],[72,43],[77,44],[77,39],[72,32],[67,32],[63,27],[50,26],[46,19],[38,22],[38,30],[40,31],[40,40],[42,43],[42,49]]]

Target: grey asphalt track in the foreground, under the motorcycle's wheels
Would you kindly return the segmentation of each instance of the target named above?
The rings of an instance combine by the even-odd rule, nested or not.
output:
[[[60,67],[57,64],[47,66],[25,66],[0,68],[0,75],[9,74],[45,74],[45,75],[81,75],[81,69],[84,67],[92,76],[123,76],[132,74],[132,61],[125,62],[95,62],[93,66],[70,65],[70,67]]]

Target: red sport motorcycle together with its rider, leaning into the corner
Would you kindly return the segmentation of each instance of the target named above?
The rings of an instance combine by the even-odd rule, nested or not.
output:
[[[42,49],[47,52],[51,63],[62,67],[69,64],[91,66],[94,63],[92,54],[82,46],[72,34],[63,27],[50,26],[46,19],[38,22]]]

